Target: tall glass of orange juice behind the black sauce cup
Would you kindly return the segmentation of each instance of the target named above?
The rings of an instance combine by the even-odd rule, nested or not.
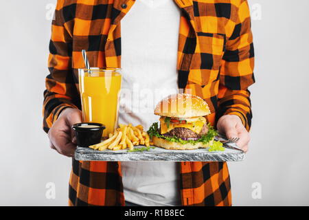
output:
[[[102,123],[103,136],[117,127],[118,103],[122,85],[119,68],[78,69],[83,122]]]

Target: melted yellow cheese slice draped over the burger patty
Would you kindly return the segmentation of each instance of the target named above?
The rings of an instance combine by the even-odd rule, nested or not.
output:
[[[187,118],[187,124],[173,124],[170,123],[168,127],[167,124],[164,122],[165,117],[160,118],[161,123],[161,134],[170,132],[174,128],[186,128],[194,131],[195,133],[200,133],[203,129],[204,124],[206,124],[206,118],[204,117],[196,117],[196,118]]]

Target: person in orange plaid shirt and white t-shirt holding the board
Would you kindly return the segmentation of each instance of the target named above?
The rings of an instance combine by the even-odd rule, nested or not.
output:
[[[240,137],[247,151],[254,52],[246,0],[58,0],[44,129],[51,147],[68,157],[76,148],[71,125],[82,120],[77,69],[84,67],[83,49],[92,67],[122,67],[126,89],[167,87],[201,96],[211,110],[207,120],[227,137]],[[134,104],[129,109],[120,122],[148,126],[150,113],[137,113]],[[231,206],[225,162],[139,165],[72,159],[69,205]]]

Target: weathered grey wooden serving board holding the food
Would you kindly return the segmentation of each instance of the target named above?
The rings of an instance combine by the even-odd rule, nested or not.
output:
[[[237,147],[236,144],[231,146]],[[135,146],[135,148],[145,146]],[[75,159],[80,161],[202,161],[202,162],[237,162],[244,159],[244,152],[238,149],[225,148],[225,151],[209,152],[207,148],[196,150],[166,150],[164,148],[151,148],[149,151],[128,152],[97,151],[91,148],[79,147],[76,149]]]

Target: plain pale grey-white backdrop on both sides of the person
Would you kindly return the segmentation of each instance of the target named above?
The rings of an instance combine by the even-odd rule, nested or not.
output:
[[[42,103],[55,0],[1,0],[0,205],[67,206],[71,159],[49,148]],[[308,0],[259,3],[253,19],[257,83],[244,162],[229,164],[234,206],[309,205]],[[56,198],[47,199],[48,182]],[[262,198],[251,196],[255,182]]]

